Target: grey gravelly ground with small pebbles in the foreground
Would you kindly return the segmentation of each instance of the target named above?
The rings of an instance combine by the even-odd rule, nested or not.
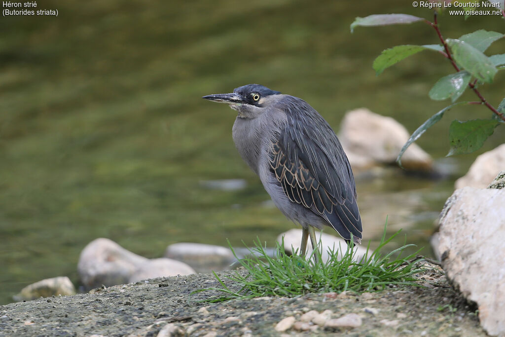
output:
[[[443,271],[425,267],[418,275],[424,287],[220,304],[199,303],[213,291],[190,295],[218,286],[212,274],[157,278],[0,306],[0,336],[486,335],[475,307],[450,287]],[[336,320],[342,316],[351,322]]]

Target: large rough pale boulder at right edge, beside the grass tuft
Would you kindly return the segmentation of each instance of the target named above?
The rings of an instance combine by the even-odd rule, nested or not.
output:
[[[479,307],[482,327],[505,335],[505,189],[457,189],[433,243],[451,283]]]

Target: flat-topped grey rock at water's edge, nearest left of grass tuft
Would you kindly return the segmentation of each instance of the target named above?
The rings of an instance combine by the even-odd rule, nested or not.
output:
[[[236,260],[228,248],[196,243],[170,245],[165,257],[187,263],[201,273],[223,270]]]

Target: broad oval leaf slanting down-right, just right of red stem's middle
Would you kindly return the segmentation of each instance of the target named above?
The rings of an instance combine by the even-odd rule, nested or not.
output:
[[[491,83],[493,81],[498,70],[487,56],[465,41],[452,38],[448,38],[446,41],[456,63],[483,82]]]

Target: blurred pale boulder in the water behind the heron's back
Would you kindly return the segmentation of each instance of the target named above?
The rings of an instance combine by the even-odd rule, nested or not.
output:
[[[407,129],[391,117],[377,115],[368,109],[345,114],[339,139],[353,169],[392,164],[409,139]],[[403,167],[414,171],[431,171],[431,157],[412,144],[401,157]]]

